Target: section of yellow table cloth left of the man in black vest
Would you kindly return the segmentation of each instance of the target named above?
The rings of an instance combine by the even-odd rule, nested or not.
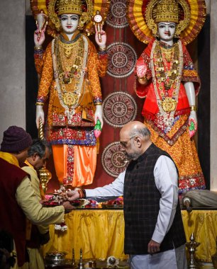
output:
[[[74,210],[65,214],[67,231],[55,231],[50,225],[50,241],[43,246],[43,253],[65,251],[66,258],[79,260],[82,248],[84,259],[106,259],[115,256],[126,260],[123,253],[123,210]]]

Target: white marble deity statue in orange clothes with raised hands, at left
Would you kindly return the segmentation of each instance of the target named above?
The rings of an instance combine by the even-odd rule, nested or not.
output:
[[[101,40],[96,33],[97,54],[81,32],[90,11],[82,11],[80,0],[50,0],[48,20],[59,35],[43,53],[44,29],[35,31],[35,67],[40,74],[36,124],[45,122],[43,105],[48,100],[45,136],[52,144],[57,178],[73,187],[88,185],[96,170],[94,126],[97,121],[103,126],[99,76],[106,73],[106,33],[101,29]]]

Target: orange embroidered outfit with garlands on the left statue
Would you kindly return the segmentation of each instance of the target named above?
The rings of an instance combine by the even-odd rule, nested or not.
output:
[[[94,115],[96,105],[102,103],[99,75],[105,74],[106,62],[79,31],[72,40],[64,33],[52,40],[40,62],[43,69],[37,104],[48,101],[45,138],[52,144],[60,183],[78,187],[93,182]]]

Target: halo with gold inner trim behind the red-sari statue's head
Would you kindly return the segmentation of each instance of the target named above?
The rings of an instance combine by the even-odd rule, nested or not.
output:
[[[148,44],[155,34],[156,4],[159,0],[129,0],[127,18],[131,30]],[[180,39],[187,45],[199,34],[206,18],[204,0],[178,0]],[[153,32],[152,32],[153,30]],[[178,34],[179,34],[178,33]]]

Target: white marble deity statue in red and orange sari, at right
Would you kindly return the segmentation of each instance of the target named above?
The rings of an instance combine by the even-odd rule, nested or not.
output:
[[[185,0],[151,0],[145,19],[154,38],[149,38],[135,67],[135,92],[145,98],[145,124],[152,142],[167,151],[179,169],[179,193],[204,189],[204,175],[191,139],[197,129],[195,96],[200,79],[179,37],[191,19],[189,4]]]

